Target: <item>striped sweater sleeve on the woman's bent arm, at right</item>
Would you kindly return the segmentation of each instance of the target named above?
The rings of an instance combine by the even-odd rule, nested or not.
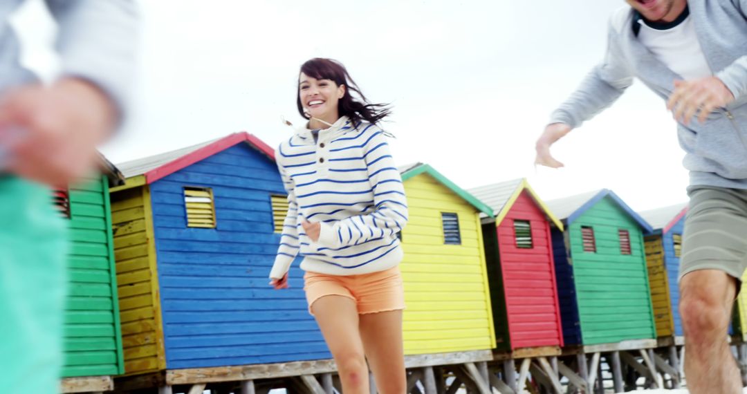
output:
[[[383,131],[378,128],[373,131],[364,148],[363,158],[368,166],[374,210],[337,222],[321,222],[317,241],[321,246],[341,248],[393,236],[407,223],[407,201],[402,178],[394,165]]]

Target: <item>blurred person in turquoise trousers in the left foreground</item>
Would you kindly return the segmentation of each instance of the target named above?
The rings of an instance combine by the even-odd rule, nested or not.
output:
[[[62,67],[43,85],[9,24],[23,2],[0,5],[0,390],[46,394],[59,390],[68,250],[50,187],[92,169],[125,119],[137,15],[130,0],[46,0]]]

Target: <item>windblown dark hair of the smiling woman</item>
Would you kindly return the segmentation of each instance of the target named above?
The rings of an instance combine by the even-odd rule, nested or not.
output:
[[[338,113],[340,116],[347,116],[350,118],[350,120],[353,121],[353,124],[356,124],[361,119],[376,124],[391,112],[391,108],[388,107],[388,104],[373,104],[368,102],[368,99],[363,96],[363,93],[361,93],[356,82],[353,81],[353,78],[350,78],[350,74],[347,73],[345,66],[337,60],[315,57],[314,59],[303,63],[300,72],[303,72],[311,78],[329,79],[330,81],[334,81],[338,86],[345,85],[345,96],[342,96],[340,101],[338,101]],[[300,95],[300,82],[299,89],[296,92],[298,112],[306,119],[311,118],[308,113],[303,112]],[[351,93],[356,93],[359,100],[353,98]]]

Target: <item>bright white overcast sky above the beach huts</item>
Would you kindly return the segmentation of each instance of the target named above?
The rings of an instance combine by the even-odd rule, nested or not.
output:
[[[51,75],[54,26],[33,0],[16,18],[25,61]],[[545,200],[606,187],[633,209],[686,201],[675,122],[639,81],[557,143],[565,169],[535,171],[548,116],[601,59],[623,0],[141,1],[131,122],[114,163],[236,131],[270,144],[301,117],[297,73],[341,60],[372,101],[399,164],[429,163],[464,188],[528,177]]]

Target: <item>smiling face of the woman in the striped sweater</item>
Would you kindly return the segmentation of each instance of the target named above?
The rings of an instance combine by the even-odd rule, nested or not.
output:
[[[303,72],[299,78],[298,96],[306,113],[314,118],[332,119],[338,118],[338,101],[345,95],[345,86],[338,86],[335,81],[329,79],[317,79],[309,77]]]

